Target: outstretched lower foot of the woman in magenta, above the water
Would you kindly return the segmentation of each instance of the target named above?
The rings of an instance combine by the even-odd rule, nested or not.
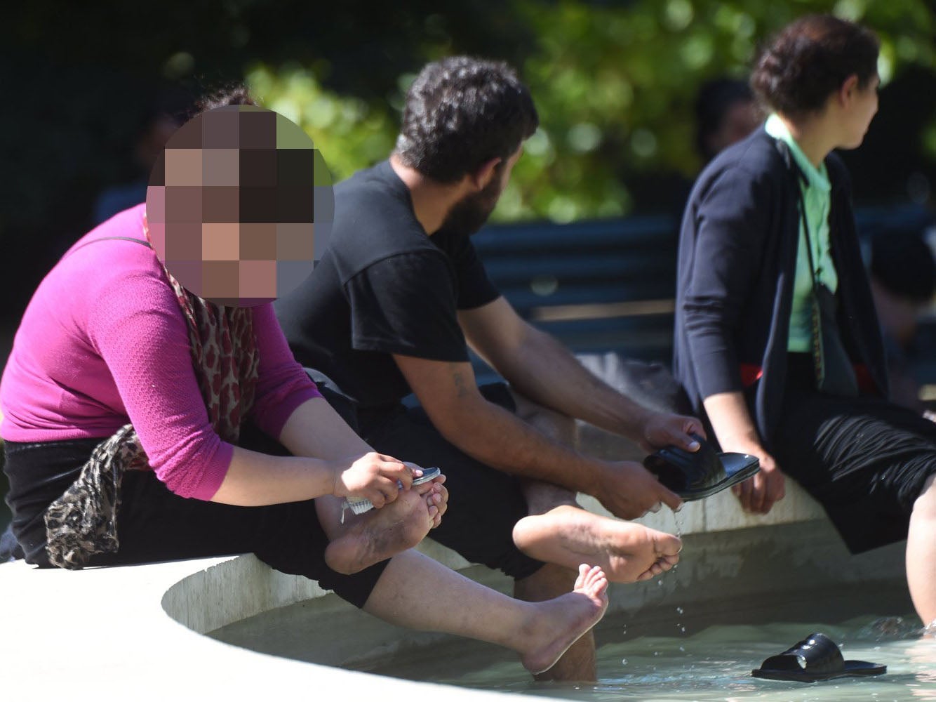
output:
[[[520,651],[520,662],[538,675],[555,665],[572,644],[605,616],[605,573],[597,565],[582,563],[572,592],[530,607],[531,617],[521,636],[521,640],[530,643]]]

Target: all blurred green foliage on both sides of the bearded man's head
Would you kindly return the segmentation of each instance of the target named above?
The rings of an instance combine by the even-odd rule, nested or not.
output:
[[[923,0],[505,2],[502,35],[533,37],[518,63],[542,124],[495,216],[557,222],[619,216],[633,210],[629,183],[643,174],[691,178],[700,166],[692,118],[698,86],[725,75],[743,79],[766,37],[804,13],[825,11],[878,32],[884,86],[909,66],[936,68],[936,21]],[[426,59],[465,43],[441,15],[424,23],[436,29],[421,47]],[[323,87],[321,73],[261,61],[246,78],[268,107],[313,136],[344,178],[388,154],[412,74],[403,73],[386,99],[368,101]],[[936,160],[936,115],[915,137],[918,150]]]

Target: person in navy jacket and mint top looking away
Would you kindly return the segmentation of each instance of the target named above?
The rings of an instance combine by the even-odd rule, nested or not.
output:
[[[699,176],[680,232],[675,373],[726,451],[758,457],[748,511],[784,474],[852,552],[903,538],[914,606],[936,619],[936,425],[887,402],[885,351],[848,173],[877,111],[878,41],[809,16],[752,75],[772,114]],[[909,535],[908,535],[909,529]]]

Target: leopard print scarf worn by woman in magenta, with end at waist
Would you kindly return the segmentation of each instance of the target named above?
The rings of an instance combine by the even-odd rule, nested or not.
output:
[[[149,228],[143,220],[152,248]],[[106,239],[127,239],[107,237]],[[95,241],[104,241],[95,239]],[[88,241],[84,245],[94,243]],[[214,431],[236,443],[241,421],[254,404],[259,356],[249,307],[219,307],[191,294],[165,267],[188,327],[192,364]],[[112,553],[120,546],[117,513],[124,471],[152,470],[130,424],[95,446],[78,479],[45,513],[46,553],[60,568],[83,567],[95,553]]]

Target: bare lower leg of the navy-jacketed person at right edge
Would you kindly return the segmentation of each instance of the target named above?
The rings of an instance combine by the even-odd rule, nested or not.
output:
[[[914,502],[907,533],[907,585],[924,626],[936,622],[936,475]],[[931,632],[932,633],[932,632]]]

